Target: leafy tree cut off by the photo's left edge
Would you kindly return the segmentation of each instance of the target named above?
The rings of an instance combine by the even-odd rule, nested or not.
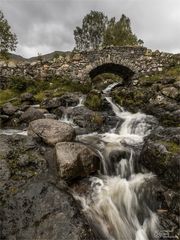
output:
[[[11,32],[11,27],[0,10],[0,55],[7,56],[8,51],[15,51],[16,45],[16,34]]]

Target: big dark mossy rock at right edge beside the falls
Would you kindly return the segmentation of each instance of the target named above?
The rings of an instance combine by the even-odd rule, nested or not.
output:
[[[159,128],[145,141],[140,162],[157,174],[164,185],[179,188],[180,128]]]

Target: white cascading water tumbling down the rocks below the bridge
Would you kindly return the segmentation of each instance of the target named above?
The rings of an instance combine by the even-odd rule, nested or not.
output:
[[[124,111],[110,97],[106,100],[123,123],[104,134],[77,137],[100,153],[103,168],[98,177],[90,179],[90,193],[75,194],[75,198],[101,232],[101,238],[103,235],[108,240],[155,239],[158,217],[146,201],[154,176],[135,170],[143,139],[150,133],[154,118]]]

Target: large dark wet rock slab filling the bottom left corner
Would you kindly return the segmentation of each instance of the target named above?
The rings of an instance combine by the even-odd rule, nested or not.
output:
[[[97,239],[73,198],[44,180],[11,196],[1,218],[2,239]]]

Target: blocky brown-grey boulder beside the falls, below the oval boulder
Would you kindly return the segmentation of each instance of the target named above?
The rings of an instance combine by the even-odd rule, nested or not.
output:
[[[64,179],[88,176],[99,169],[99,156],[89,147],[78,142],[56,144],[59,175]]]

